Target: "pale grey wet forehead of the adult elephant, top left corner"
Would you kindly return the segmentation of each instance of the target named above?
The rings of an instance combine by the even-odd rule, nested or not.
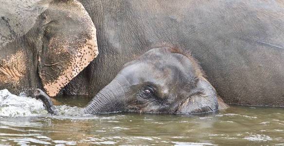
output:
[[[1,0],[0,46],[24,36],[52,0]],[[1,48],[0,48],[1,50]]]

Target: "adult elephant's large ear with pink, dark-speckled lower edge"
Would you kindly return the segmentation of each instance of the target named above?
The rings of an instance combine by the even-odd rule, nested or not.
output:
[[[53,0],[41,19],[39,76],[48,95],[55,96],[98,55],[96,29],[76,0]]]

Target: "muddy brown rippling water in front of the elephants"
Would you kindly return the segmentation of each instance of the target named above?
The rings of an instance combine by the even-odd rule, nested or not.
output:
[[[113,113],[51,116],[35,104],[26,108],[25,110],[31,111],[24,115],[23,112],[13,114],[11,112],[10,116],[7,116],[3,115],[3,109],[14,107],[15,110],[17,104],[4,105],[5,100],[0,99],[0,101],[2,102],[0,146],[98,144],[284,146],[284,109],[282,108],[231,106],[225,111],[204,115]],[[89,99],[60,98],[59,101],[65,105],[80,107]],[[33,111],[35,109],[36,111]]]

